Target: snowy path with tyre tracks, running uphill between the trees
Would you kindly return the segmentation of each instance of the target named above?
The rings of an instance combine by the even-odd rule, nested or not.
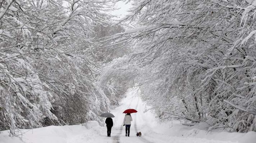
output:
[[[113,143],[154,143],[144,138],[143,135],[142,137],[136,136],[137,132],[141,132],[141,126],[146,125],[144,121],[146,118],[148,118],[143,116],[143,110],[145,107],[142,105],[142,101],[138,96],[137,90],[134,89],[129,91],[127,97],[120,104],[121,105],[119,107],[112,110],[113,114],[115,115],[115,118],[113,118],[114,127],[112,128],[111,133]],[[123,126],[125,114],[123,114],[123,111],[129,108],[136,109],[138,112],[131,114],[133,121],[130,129],[130,137],[125,137],[125,127]],[[152,116],[148,119],[152,119]]]

